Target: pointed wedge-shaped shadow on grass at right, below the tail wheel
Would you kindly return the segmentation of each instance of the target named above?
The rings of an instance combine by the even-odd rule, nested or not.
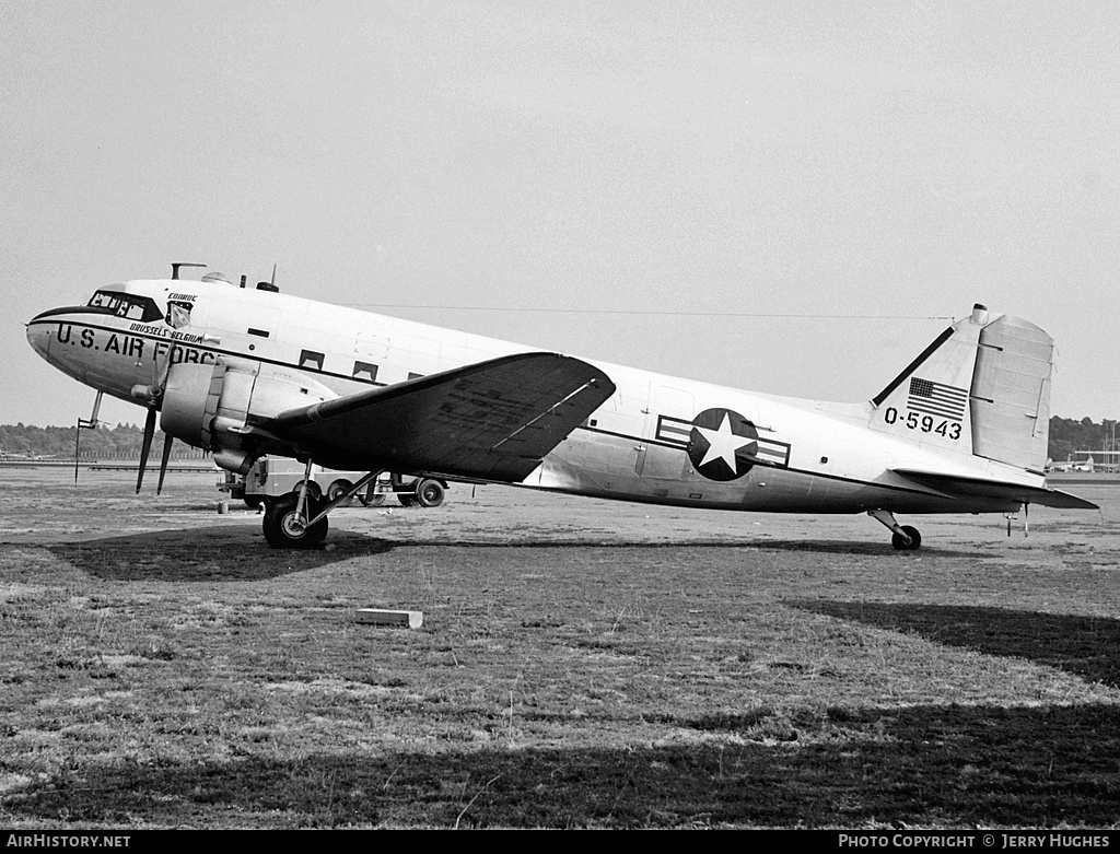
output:
[[[1005,608],[786,601],[813,613],[913,632],[945,646],[1026,658],[1088,682],[1120,687],[1120,620]]]

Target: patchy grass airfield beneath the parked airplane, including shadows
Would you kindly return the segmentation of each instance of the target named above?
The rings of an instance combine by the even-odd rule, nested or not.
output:
[[[1120,487],[896,553],[459,486],[299,553],[170,477],[9,477],[2,826],[1120,825]]]

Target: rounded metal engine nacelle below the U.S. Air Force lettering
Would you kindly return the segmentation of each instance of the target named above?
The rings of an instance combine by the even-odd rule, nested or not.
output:
[[[160,426],[168,435],[212,451],[223,469],[243,475],[259,456],[250,416],[270,419],[337,396],[308,376],[264,375],[259,365],[179,363],[167,375]]]

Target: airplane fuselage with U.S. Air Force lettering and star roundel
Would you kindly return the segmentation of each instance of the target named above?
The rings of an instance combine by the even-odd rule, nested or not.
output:
[[[37,316],[28,339],[75,379],[140,405],[136,388],[166,362],[261,363],[348,395],[534,351],[222,282],[141,280],[99,293],[108,294],[100,306]],[[114,303],[113,293],[124,298]],[[981,513],[1015,510],[1019,503],[948,495],[893,469],[948,464],[962,477],[1044,482],[963,445],[946,458],[943,448],[952,450],[960,426],[945,420],[931,419],[926,428],[924,416],[907,424],[906,413],[892,415],[874,403],[778,397],[588,362],[610,377],[615,393],[521,486],[740,510]]]

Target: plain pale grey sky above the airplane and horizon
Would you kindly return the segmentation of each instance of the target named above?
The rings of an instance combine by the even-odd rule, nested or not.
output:
[[[982,302],[1116,419],[1118,45],[1112,2],[4,0],[0,423],[93,402],[27,320],[172,261],[850,401]]]

